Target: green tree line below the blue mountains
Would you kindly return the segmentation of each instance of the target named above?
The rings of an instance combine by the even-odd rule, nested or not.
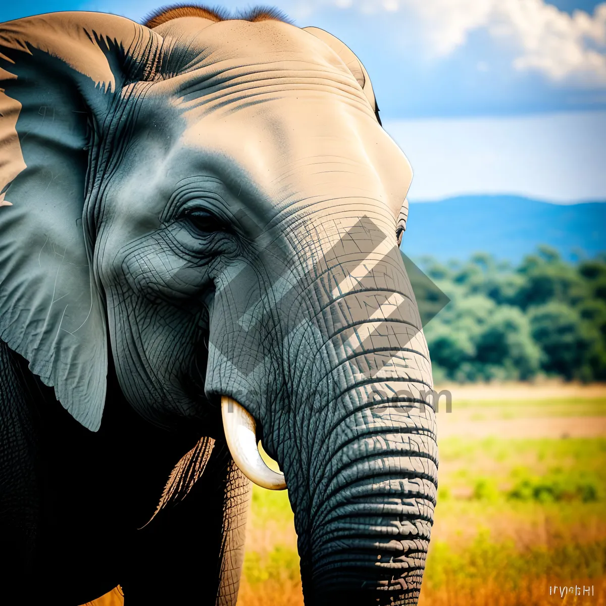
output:
[[[420,267],[451,299],[424,329],[436,382],[606,379],[606,253],[567,262],[542,246],[517,267],[485,253]]]

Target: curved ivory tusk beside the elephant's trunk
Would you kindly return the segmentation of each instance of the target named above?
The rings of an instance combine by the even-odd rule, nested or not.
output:
[[[253,416],[227,396],[221,396],[221,415],[231,458],[240,471],[258,486],[270,490],[284,490],[284,474],[267,467],[259,454]]]

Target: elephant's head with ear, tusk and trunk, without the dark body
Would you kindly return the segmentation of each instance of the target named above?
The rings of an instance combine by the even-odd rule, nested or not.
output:
[[[93,431],[111,351],[140,415],[281,488],[261,439],[307,603],[416,603],[437,452],[411,170],[361,62],[262,10],[53,13],[0,46],[0,339]]]

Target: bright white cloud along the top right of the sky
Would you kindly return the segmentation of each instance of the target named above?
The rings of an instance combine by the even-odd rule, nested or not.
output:
[[[368,10],[365,0],[329,3]],[[606,86],[606,2],[593,15],[581,10],[569,15],[544,0],[382,0],[373,5],[420,19],[434,56],[449,55],[471,32],[485,29],[516,44],[516,70],[536,70],[556,82]]]

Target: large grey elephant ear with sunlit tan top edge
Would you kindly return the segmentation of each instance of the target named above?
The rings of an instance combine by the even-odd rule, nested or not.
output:
[[[95,431],[107,330],[85,204],[89,147],[121,87],[145,71],[139,55],[154,36],[101,13],[0,24],[0,339]]]

